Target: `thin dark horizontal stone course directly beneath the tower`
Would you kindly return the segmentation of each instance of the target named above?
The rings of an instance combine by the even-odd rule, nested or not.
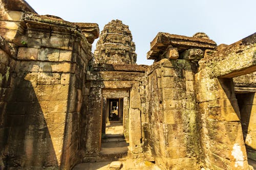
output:
[[[94,71],[125,71],[125,72],[145,72],[147,65],[135,64],[104,64],[103,67],[94,67]]]

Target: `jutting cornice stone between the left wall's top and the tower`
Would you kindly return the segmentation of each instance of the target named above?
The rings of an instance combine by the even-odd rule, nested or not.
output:
[[[89,43],[93,43],[96,38],[99,38],[99,26],[97,23],[81,23],[74,22],[80,27],[82,33],[86,36]]]

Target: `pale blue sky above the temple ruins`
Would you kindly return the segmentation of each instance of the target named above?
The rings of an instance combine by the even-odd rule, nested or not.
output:
[[[40,15],[98,23],[100,30],[112,19],[122,20],[132,31],[138,64],[153,63],[146,60],[146,53],[158,32],[185,36],[204,32],[217,44],[231,44],[256,32],[255,0],[26,1]]]

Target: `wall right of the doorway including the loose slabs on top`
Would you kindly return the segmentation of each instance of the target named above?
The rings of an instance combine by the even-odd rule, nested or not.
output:
[[[204,52],[216,47],[207,35],[200,35],[203,38],[158,33],[147,53],[155,60],[147,70],[147,138],[162,168],[200,168],[203,151],[195,74]]]

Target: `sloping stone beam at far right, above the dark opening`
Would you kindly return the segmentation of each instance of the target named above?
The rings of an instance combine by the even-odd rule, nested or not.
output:
[[[256,71],[256,33],[199,61],[210,78],[233,78]]]

